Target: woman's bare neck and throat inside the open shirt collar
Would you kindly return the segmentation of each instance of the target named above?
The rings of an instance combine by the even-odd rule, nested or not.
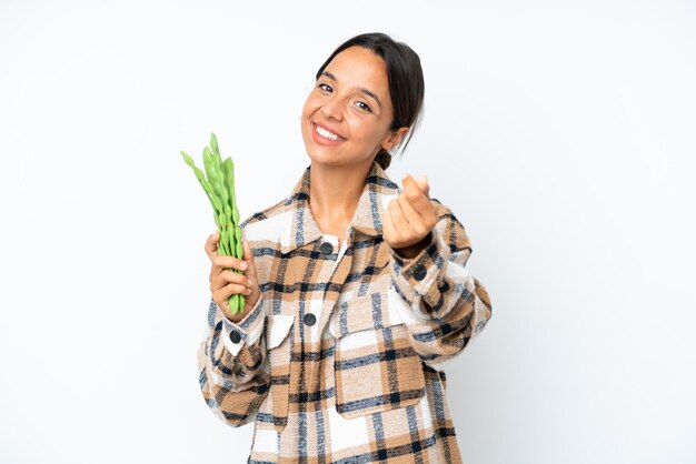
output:
[[[309,208],[321,232],[342,236],[358,206],[370,167],[371,162],[338,168],[312,162]]]

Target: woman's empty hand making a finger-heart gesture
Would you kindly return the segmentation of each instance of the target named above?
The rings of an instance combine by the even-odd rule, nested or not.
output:
[[[404,191],[382,215],[385,242],[404,258],[414,258],[428,244],[438,215],[429,196],[428,179],[404,176]],[[428,240],[426,240],[428,239]]]

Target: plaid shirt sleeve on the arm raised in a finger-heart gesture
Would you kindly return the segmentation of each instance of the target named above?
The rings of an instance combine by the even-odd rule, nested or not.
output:
[[[471,246],[451,211],[432,200],[439,220],[421,252],[405,259],[389,248],[392,289],[411,344],[435,364],[460,353],[491,316],[488,292],[466,268]]]

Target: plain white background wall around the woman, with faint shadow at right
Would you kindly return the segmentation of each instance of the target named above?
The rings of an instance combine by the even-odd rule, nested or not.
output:
[[[252,6],[253,4],[253,6]],[[426,74],[427,173],[494,317],[447,366],[466,463],[695,463],[688,1],[0,3],[0,462],[246,462],[196,351],[215,230],[308,164],[314,74],[384,31]]]

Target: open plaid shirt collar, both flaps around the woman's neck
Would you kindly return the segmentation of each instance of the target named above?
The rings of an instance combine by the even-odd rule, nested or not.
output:
[[[285,202],[285,206],[292,211],[292,215],[289,224],[291,228],[290,240],[281,246],[282,253],[289,253],[322,236],[322,232],[309,209],[310,169],[311,165],[307,167],[301,179],[292,189],[292,193]],[[355,230],[369,236],[381,235],[382,211],[388,202],[398,194],[398,185],[387,176],[378,163],[372,162],[348,230],[350,232]]]

